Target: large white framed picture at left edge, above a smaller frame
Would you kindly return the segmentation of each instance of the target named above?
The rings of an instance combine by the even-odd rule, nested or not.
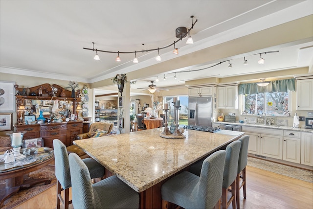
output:
[[[0,112],[15,112],[15,82],[0,81]]]

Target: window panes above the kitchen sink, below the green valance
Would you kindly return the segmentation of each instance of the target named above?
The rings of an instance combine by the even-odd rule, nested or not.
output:
[[[253,93],[245,94],[244,110],[247,114],[262,114],[282,116],[289,110],[289,93]]]

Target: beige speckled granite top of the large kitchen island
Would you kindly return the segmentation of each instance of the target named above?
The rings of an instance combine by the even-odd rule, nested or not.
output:
[[[184,139],[159,136],[162,128],[73,141],[115,176],[142,192],[195,163],[239,135],[186,130]]]

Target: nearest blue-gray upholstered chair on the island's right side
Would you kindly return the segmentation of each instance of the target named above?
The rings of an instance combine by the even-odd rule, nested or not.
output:
[[[162,209],[168,202],[185,209],[212,209],[220,205],[226,152],[217,151],[202,163],[200,176],[188,171],[174,176],[161,186]]]

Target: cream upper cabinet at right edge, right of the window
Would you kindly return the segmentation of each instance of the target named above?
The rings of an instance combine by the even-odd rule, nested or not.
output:
[[[313,78],[297,80],[297,110],[313,110]]]

